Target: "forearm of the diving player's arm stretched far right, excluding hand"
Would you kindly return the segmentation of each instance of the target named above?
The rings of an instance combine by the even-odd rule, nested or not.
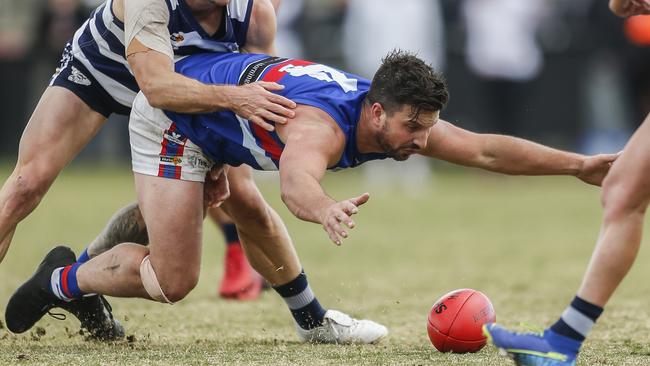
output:
[[[585,157],[524,139],[483,135],[477,167],[512,175],[577,175]]]

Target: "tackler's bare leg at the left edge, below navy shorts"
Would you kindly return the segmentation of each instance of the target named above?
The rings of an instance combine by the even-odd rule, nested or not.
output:
[[[69,90],[45,90],[23,132],[16,167],[0,191],[0,262],[16,225],[38,206],[105,120]]]

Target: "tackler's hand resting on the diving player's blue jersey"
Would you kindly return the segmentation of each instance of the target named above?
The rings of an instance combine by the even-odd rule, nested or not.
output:
[[[273,131],[271,123],[287,123],[295,116],[296,103],[274,91],[284,89],[284,85],[258,81],[233,88],[229,95],[228,109],[267,131]]]

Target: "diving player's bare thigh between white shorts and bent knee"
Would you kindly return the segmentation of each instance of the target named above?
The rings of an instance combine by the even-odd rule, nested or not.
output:
[[[135,173],[149,250],[161,283],[179,274],[198,278],[203,227],[203,183]]]

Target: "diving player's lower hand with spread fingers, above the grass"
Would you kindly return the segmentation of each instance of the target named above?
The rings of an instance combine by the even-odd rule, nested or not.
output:
[[[321,224],[334,244],[341,245],[341,241],[348,237],[348,230],[356,226],[351,216],[358,213],[359,206],[369,199],[370,194],[364,193],[358,197],[336,202],[325,210],[321,216]]]

